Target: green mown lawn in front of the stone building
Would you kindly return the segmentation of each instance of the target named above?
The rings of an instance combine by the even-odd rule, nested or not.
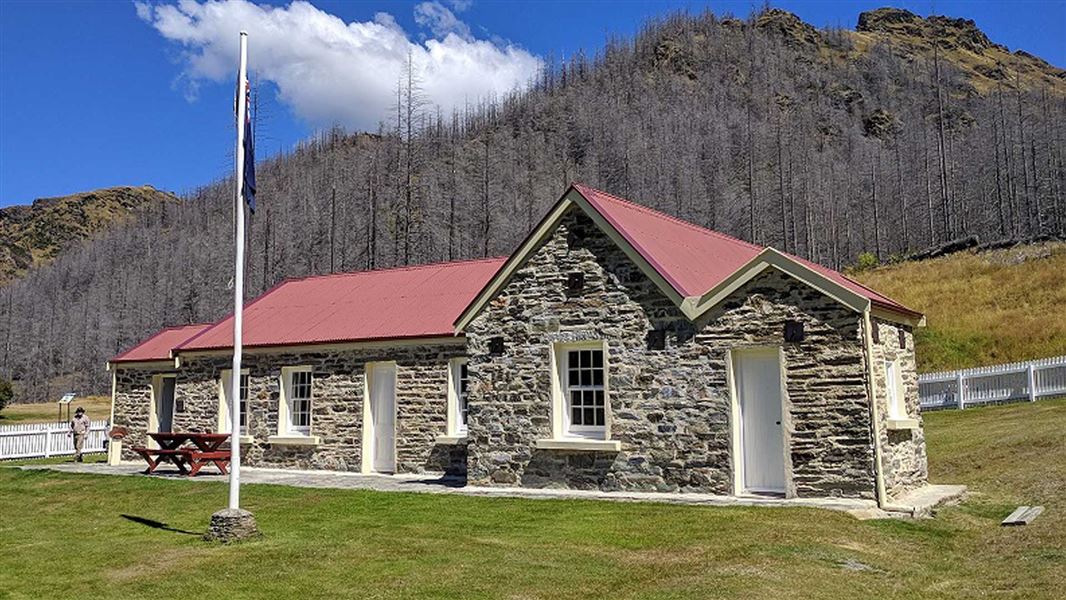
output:
[[[918,522],[246,486],[266,537],[223,547],[199,534],[225,484],[0,468],[0,597],[1061,597],[1066,401],[932,413],[926,432],[933,480],[975,494]],[[999,526],[1020,503],[1047,512]]]

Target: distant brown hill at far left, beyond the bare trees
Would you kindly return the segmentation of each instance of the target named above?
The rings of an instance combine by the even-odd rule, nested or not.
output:
[[[107,188],[0,209],[0,285],[53,260],[71,244],[177,198],[150,185]]]

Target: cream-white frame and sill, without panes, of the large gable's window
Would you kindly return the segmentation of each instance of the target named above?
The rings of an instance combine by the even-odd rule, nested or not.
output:
[[[570,353],[581,352],[581,351],[593,351],[599,352],[602,356],[602,361],[600,367],[593,367],[592,369],[600,369],[602,371],[602,384],[597,386],[595,383],[588,386],[579,384],[578,387],[580,391],[601,391],[603,394],[603,424],[602,425],[575,425],[571,422],[571,401],[570,391],[571,386],[569,384],[569,371],[570,371]],[[607,344],[601,340],[576,342],[576,343],[556,343],[552,348],[552,361],[554,362],[553,369],[553,438],[555,439],[589,439],[589,440],[608,440],[610,439],[611,431],[611,389],[610,389],[610,364],[609,355],[607,351]]]

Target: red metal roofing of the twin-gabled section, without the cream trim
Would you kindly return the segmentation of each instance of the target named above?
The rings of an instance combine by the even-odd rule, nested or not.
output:
[[[575,183],[574,189],[682,296],[707,293],[765,249],[587,185]],[[919,314],[842,273],[789,256],[878,306]]]

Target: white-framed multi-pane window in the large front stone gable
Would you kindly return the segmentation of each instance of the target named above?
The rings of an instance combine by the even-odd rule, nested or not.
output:
[[[607,439],[607,363],[601,342],[560,345],[559,406],[563,436]]]

